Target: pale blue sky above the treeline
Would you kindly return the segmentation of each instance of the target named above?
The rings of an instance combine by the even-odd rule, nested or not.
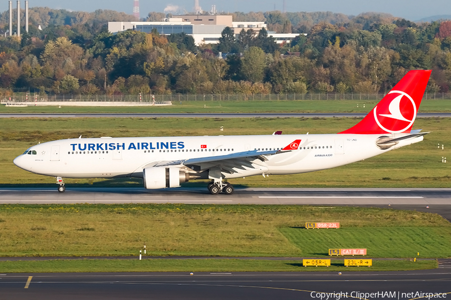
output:
[[[283,9],[283,0],[199,0],[203,10],[210,10],[216,5],[217,12],[232,11],[270,11]],[[285,0],[286,11],[332,11],[347,15],[357,15],[362,12],[387,12],[394,16],[404,17],[415,21],[423,17],[439,14],[451,14],[450,0]],[[25,0],[21,0],[25,8]],[[50,8],[64,8],[68,10],[94,11],[96,9],[112,9],[132,14],[133,0],[29,0],[29,6],[48,6]],[[145,17],[149,11],[168,12],[168,8],[183,13],[192,11],[194,0],[139,0],[140,16]],[[13,0],[13,7],[17,7]],[[166,11],[164,11],[166,8]],[[8,10],[8,1],[0,3],[0,10]]]

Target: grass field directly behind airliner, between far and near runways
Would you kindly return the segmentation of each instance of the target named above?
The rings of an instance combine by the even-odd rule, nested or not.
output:
[[[13,159],[28,147],[55,139],[99,136],[238,135],[336,133],[358,118],[3,118],[0,119],[0,186],[54,184],[53,177],[16,167]],[[223,126],[224,131],[219,127]],[[414,128],[431,131],[422,142],[349,165],[296,175],[230,180],[252,187],[451,187],[451,119],[417,118]],[[437,149],[440,144],[440,149]],[[441,150],[444,144],[444,150]],[[141,180],[65,179],[67,184],[117,186]],[[196,181],[184,183],[192,186]]]

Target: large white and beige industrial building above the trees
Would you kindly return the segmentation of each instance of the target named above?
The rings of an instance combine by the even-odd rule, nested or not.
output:
[[[156,29],[160,34],[172,34],[184,32],[194,38],[196,45],[202,43],[218,43],[221,32],[225,27],[231,27],[237,37],[242,29],[260,31],[266,28],[265,22],[234,22],[232,15],[177,15],[166,18],[160,22],[108,22],[108,31],[117,33],[124,30],[137,30],[151,32]],[[268,32],[277,43],[292,40],[299,33],[275,33]]]

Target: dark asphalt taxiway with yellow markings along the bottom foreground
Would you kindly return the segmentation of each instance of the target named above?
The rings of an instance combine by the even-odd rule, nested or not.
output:
[[[396,272],[189,272],[0,274],[3,300],[414,299],[451,296],[451,268]],[[340,296],[337,293],[341,293]],[[348,297],[345,297],[347,295]],[[427,297],[426,297],[427,298]],[[431,297],[434,298],[434,297]],[[438,298],[438,297],[435,297]]]

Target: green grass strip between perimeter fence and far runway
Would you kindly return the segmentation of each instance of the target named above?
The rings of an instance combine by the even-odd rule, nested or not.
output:
[[[6,107],[0,113],[207,113],[207,112],[369,112],[377,100],[172,101],[170,106],[29,106]],[[427,99],[419,112],[451,112],[451,100]]]

